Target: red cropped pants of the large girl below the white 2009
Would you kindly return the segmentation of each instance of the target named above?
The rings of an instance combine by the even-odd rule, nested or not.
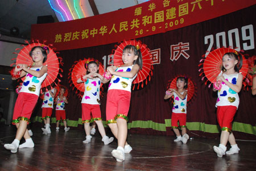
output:
[[[237,112],[236,106],[218,106],[217,107],[217,119],[218,124],[220,124],[221,128],[229,128],[232,130],[232,121],[234,119],[234,115]]]

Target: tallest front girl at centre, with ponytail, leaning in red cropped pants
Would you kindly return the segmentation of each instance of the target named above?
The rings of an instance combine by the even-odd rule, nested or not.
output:
[[[123,48],[123,65],[120,67],[109,66],[109,73],[104,73],[104,82],[110,81],[106,103],[106,120],[118,140],[118,147],[112,155],[121,162],[125,160],[125,153],[130,153],[132,148],[127,144],[127,114],[130,107],[131,84],[139,69],[142,68],[142,55],[139,45],[127,45]]]

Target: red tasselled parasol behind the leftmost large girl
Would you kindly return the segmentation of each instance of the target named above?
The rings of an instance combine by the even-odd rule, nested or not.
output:
[[[60,66],[59,64],[61,61],[60,57],[57,57],[56,53],[53,51],[53,49],[49,46],[51,45],[45,45],[45,44],[41,44],[41,43],[31,43],[29,44],[28,41],[26,41],[26,43],[28,44],[27,46],[22,45],[22,49],[16,49],[20,50],[18,54],[18,56],[16,57],[16,65],[18,64],[27,64],[27,65],[32,65],[33,64],[33,60],[32,57],[30,56],[30,51],[33,47],[35,46],[42,46],[42,47],[48,47],[49,48],[49,52],[47,53],[47,60],[46,62],[44,62],[43,65],[47,65],[47,77],[46,79],[44,79],[44,81],[42,82],[41,88],[43,91],[46,91],[46,87],[48,86],[48,89],[52,89],[53,87],[55,87],[57,85],[57,82],[59,82],[59,78],[57,78],[57,76],[59,75],[60,77],[61,74],[60,72]],[[44,42],[45,43],[45,42]],[[14,60],[14,59],[12,59]],[[60,61],[59,61],[60,60]],[[14,64],[11,64],[11,66]],[[24,81],[24,77],[22,78],[22,80]]]

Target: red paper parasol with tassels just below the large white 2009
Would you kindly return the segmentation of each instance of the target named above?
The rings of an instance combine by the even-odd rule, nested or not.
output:
[[[205,74],[204,77],[207,77],[208,81],[210,81],[211,83],[215,82],[218,74],[220,74],[221,72],[222,57],[224,56],[225,53],[235,52],[235,51],[236,51],[235,49],[231,49],[231,48],[218,48],[210,52],[205,59],[200,60],[200,62],[203,61],[203,70],[204,70],[203,73]],[[247,70],[248,70],[248,63],[244,55],[242,55],[242,58],[243,58],[243,64],[242,64],[242,68],[240,69],[240,72],[242,73],[243,77],[246,77]],[[199,64],[199,66],[201,65],[202,63]],[[199,69],[199,72],[201,69]],[[203,73],[201,73],[200,76]],[[202,78],[202,80],[204,79],[204,77]],[[205,82],[205,85],[206,84],[207,84],[207,81]]]

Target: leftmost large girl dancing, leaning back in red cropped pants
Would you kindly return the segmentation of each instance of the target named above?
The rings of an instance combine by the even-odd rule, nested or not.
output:
[[[26,80],[22,84],[14,107],[13,124],[18,128],[15,139],[13,143],[4,145],[12,153],[16,153],[18,147],[34,148],[34,142],[28,134],[27,124],[30,122],[30,116],[38,101],[41,84],[47,76],[47,66],[43,66],[43,63],[47,60],[47,48],[36,46],[31,49],[30,56],[34,65],[30,68],[26,64],[19,64],[14,68],[12,79],[16,80],[26,75]],[[26,142],[19,145],[22,137]]]

